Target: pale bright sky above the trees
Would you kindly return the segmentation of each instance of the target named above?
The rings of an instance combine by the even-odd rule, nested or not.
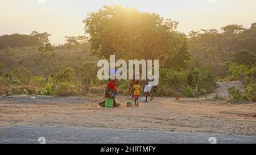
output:
[[[48,32],[51,43],[84,34],[87,12],[103,5],[136,7],[179,21],[178,30],[220,29],[228,24],[249,28],[256,22],[255,0],[0,0],[0,35]]]

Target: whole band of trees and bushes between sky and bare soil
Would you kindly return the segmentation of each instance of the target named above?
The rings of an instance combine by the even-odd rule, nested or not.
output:
[[[176,30],[176,21],[115,5],[90,12],[83,22],[89,37],[65,36],[64,45],[52,46],[47,32],[33,31],[27,37],[36,40],[34,45],[21,41],[21,47],[9,44],[13,48],[0,49],[0,91],[102,93],[106,81],[97,79],[97,60],[115,55],[123,60],[159,59],[155,95],[199,97],[214,90],[216,81],[241,80],[246,94],[233,89],[232,96],[256,100],[255,24],[248,29],[234,24],[222,31],[192,31],[186,36]],[[218,74],[220,70],[224,72]],[[128,86],[129,81],[118,82],[120,93],[126,94]]]

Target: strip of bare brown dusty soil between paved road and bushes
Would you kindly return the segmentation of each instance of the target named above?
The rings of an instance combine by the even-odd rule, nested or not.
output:
[[[0,97],[0,124],[102,127],[168,132],[226,133],[256,136],[256,103],[155,98],[126,107],[98,106],[100,97]]]

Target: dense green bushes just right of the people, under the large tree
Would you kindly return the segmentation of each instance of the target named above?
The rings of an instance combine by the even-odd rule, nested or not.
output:
[[[158,94],[184,95],[185,97],[199,97],[212,91],[216,85],[216,77],[209,68],[175,71],[161,69]]]

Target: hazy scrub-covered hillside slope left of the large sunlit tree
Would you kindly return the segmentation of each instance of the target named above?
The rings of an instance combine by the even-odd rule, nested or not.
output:
[[[34,75],[47,76],[56,73],[67,66],[79,69],[83,64],[95,62],[90,56],[88,44],[73,47],[55,47],[53,51],[39,52],[39,47],[15,47],[0,49],[0,62],[5,66],[5,72],[25,68]]]

